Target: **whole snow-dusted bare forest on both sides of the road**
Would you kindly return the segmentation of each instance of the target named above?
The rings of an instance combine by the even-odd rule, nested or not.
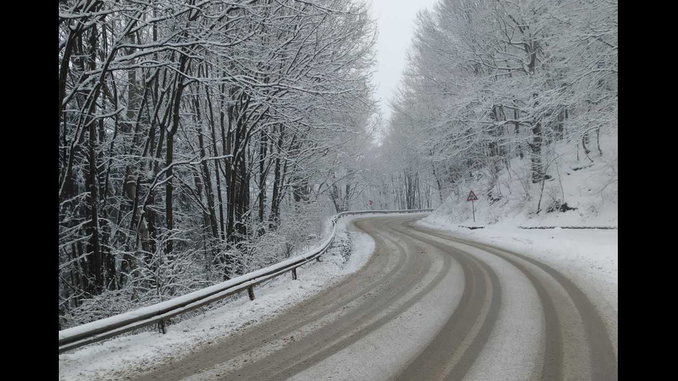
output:
[[[537,205],[557,145],[585,166],[616,136],[617,8],[440,0],[384,118],[365,1],[60,1],[59,329],[276,263],[345,210],[500,200],[504,172]]]

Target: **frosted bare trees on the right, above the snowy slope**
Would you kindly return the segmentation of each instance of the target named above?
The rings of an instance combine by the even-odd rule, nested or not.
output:
[[[616,134],[616,1],[441,0],[408,62],[385,146],[439,189],[482,177],[499,198],[512,158],[539,183],[554,142],[589,156],[601,128]]]

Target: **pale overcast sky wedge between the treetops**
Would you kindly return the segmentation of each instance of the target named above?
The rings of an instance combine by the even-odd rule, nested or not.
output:
[[[391,115],[388,100],[393,97],[405,68],[405,53],[412,41],[416,12],[424,8],[432,10],[436,1],[372,0],[372,16],[377,19],[379,28],[376,45],[378,66],[374,84],[385,120]]]

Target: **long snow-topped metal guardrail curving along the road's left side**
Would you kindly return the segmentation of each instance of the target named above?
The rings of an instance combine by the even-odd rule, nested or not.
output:
[[[254,299],[254,286],[262,282],[284,274],[285,272],[292,272],[292,279],[297,278],[296,269],[299,266],[318,259],[320,255],[327,251],[329,245],[334,239],[336,233],[336,223],[344,216],[354,216],[359,214],[380,214],[380,213],[423,213],[432,212],[432,209],[417,209],[417,210],[362,210],[356,212],[341,212],[332,218],[332,233],[320,245],[320,248],[311,250],[303,255],[287,259],[275,265],[262,268],[261,270],[249,272],[240,277],[223,281],[214,286],[203,288],[190,292],[181,297],[175,297],[167,301],[163,301],[153,306],[147,306],[132,310],[127,313],[107,317],[95,322],[82,324],[71,328],[59,331],[59,353],[75,349],[80,346],[98,342],[109,337],[120,335],[121,333],[134,331],[138,328],[143,328],[152,324],[160,324],[161,329],[165,330],[165,321],[170,317],[180,315],[182,313],[206,306],[214,301],[234,295],[237,292],[244,290],[248,291],[250,299]]]

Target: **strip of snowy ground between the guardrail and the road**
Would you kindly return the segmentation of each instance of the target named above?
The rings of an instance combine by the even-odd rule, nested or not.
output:
[[[333,247],[321,262],[311,261],[297,268],[295,281],[289,274],[277,277],[255,287],[254,301],[244,292],[219,308],[168,326],[165,335],[143,331],[61,354],[59,380],[121,380],[149,364],[175,360],[295,306],[367,263],[374,252],[374,241],[368,234],[347,232],[349,221],[359,217],[340,219]],[[345,259],[340,247],[349,241],[351,255]]]

